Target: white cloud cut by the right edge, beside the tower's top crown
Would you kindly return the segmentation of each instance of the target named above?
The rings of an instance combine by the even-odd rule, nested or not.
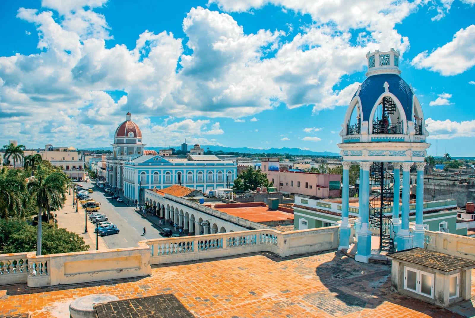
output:
[[[452,41],[436,48],[432,53],[424,51],[412,59],[416,68],[427,68],[443,76],[457,75],[475,65],[475,25],[460,29]]]

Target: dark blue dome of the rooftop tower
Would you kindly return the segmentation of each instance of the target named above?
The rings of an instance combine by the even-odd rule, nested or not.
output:
[[[371,111],[379,96],[384,93],[384,82],[389,84],[389,92],[399,99],[407,120],[412,120],[412,93],[408,83],[396,74],[372,75],[361,84],[360,99],[363,120],[370,120]],[[353,97],[356,96],[353,95]]]

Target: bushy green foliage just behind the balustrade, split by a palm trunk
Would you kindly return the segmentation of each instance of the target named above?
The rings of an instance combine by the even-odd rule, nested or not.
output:
[[[41,241],[42,251],[45,254],[87,251],[89,249],[89,245],[85,245],[83,238],[76,233],[66,229],[57,229],[55,225],[47,223],[44,223],[43,226]],[[20,253],[37,249],[37,229],[34,226],[26,222],[15,222],[11,227],[15,231],[8,231],[8,238],[5,238],[6,235],[0,236],[4,241],[4,253]]]

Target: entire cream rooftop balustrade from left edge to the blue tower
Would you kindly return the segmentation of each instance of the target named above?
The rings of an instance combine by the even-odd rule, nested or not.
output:
[[[269,251],[285,257],[335,250],[338,226],[301,231],[253,230],[141,241],[137,247],[36,256],[1,254],[0,285],[46,287],[151,275],[151,265]]]

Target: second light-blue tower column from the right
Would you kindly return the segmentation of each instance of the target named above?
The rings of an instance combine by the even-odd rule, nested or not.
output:
[[[402,164],[402,211],[401,211],[401,228],[396,235],[398,242],[398,251],[407,250],[411,247],[411,237],[409,233],[409,171],[412,163],[405,162]]]

